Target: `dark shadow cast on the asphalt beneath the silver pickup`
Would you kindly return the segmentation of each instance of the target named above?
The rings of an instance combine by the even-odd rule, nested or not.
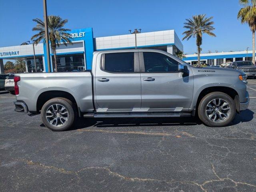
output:
[[[230,124],[234,126],[240,122],[249,122],[253,119],[254,112],[247,109],[236,114]],[[70,130],[87,127],[132,127],[132,126],[195,126],[202,122],[196,117],[188,118],[79,118]]]

